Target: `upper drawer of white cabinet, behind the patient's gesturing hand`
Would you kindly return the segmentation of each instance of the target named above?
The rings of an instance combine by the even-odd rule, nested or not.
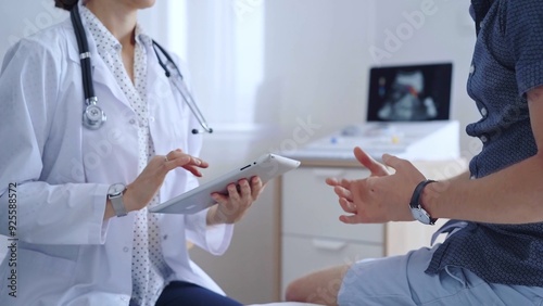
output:
[[[382,243],[384,226],[345,225],[339,221],[344,212],[327,177],[363,178],[362,168],[300,168],[282,176],[282,231],[302,235]]]

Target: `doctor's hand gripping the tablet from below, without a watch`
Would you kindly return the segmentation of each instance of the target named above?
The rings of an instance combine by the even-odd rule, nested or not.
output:
[[[264,190],[258,177],[252,177],[251,183],[247,179],[241,179],[238,181],[238,186],[230,183],[227,187],[228,194],[212,193],[217,205],[207,211],[209,226],[239,221]]]

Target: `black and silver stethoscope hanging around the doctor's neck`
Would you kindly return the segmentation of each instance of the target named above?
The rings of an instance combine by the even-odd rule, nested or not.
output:
[[[85,111],[83,112],[83,125],[91,130],[99,129],[106,120],[104,111],[98,105],[98,98],[94,95],[94,87],[92,85],[92,69],[90,63],[90,51],[87,41],[87,35],[85,34],[85,29],[83,27],[81,18],[79,15],[78,5],[74,5],[72,11],[70,12],[72,24],[74,25],[75,36],[77,38],[77,46],[79,48],[79,59],[81,61],[81,75],[83,75],[83,89],[85,92]],[[175,88],[179,91],[182,99],[189,105],[190,111],[197,117],[200,126],[203,130],[192,129],[192,133],[200,132],[213,132],[213,129],[207,126],[202,112],[198,107],[194,99],[192,99],[192,94],[190,94],[185,81],[182,80],[182,75],[177,65],[172,60],[172,56],[162,48],[156,41],[153,40],[153,50],[156,54],[156,59],[159,59],[159,64],[166,73],[166,77],[171,80],[171,82],[175,86]],[[162,56],[166,59],[166,63],[163,62],[162,56],[159,54],[159,51],[162,53]],[[175,76],[179,77],[179,81],[174,81],[172,79],[172,73],[168,68],[168,65],[175,72]]]

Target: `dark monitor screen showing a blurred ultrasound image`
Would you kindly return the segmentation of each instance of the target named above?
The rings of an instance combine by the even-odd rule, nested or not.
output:
[[[371,68],[367,120],[449,120],[452,71],[452,63]]]

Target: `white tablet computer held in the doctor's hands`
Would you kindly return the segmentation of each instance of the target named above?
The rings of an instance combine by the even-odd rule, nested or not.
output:
[[[149,212],[194,214],[214,205],[216,202],[211,197],[211,194],[213,192],[228,193],[226,188],[232,182],[238,182],[243,178],[249,180],[254,176],[258,176],[262,182],[265,183],[277,176],[298,168],[298,166],[300,166],[299,161],[268,153],[169,201],[149,207]]]

